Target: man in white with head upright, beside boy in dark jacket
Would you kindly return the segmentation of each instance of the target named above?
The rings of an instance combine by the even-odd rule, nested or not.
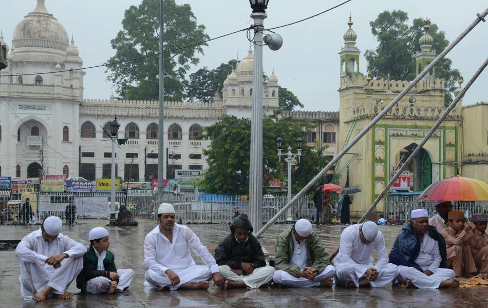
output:
[[[224,283],[215,259],[193,231],[175,223],[175,208],[162,203],[158,209],[159,225],[144,239],[144,286],[164,288],[207,289],[209,280],[217,286]],[[202,258],[206,265],[196,265],[190,253]]]

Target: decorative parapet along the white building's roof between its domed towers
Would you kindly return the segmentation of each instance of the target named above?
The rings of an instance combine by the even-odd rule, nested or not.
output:
[[[158,117],[158,101],[84,100],[80,114]],[[164,102],[166,118],[221,118],[221,103]]]

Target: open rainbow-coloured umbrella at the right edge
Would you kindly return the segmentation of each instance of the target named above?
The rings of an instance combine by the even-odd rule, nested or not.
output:
[[[419,200],[488,201],[488,184],[460,176],[448,178],[427,187]]]

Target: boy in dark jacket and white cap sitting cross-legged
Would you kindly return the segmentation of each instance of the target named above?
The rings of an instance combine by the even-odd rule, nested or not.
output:
[[[83,270],[76,279],[82,292],[91,294],[123,292],[134,278],[130,268],[117,269],[115,256],[109,252],[108,231],[102,227],[91,229],[88,236],[90,247],[83,256]]]

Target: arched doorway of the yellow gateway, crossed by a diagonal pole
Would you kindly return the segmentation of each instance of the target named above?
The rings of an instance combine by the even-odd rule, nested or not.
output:
[[[391,176],[396,173],[417,146],[416,143],[411,143],[397,153],[395,166],[393,167]],[[411,191],[422,191],[432,184],[432,160],[430,159],[428,151],[422,148],[420,153],[409,163],[404,172],[408,172],[410,175]]]

